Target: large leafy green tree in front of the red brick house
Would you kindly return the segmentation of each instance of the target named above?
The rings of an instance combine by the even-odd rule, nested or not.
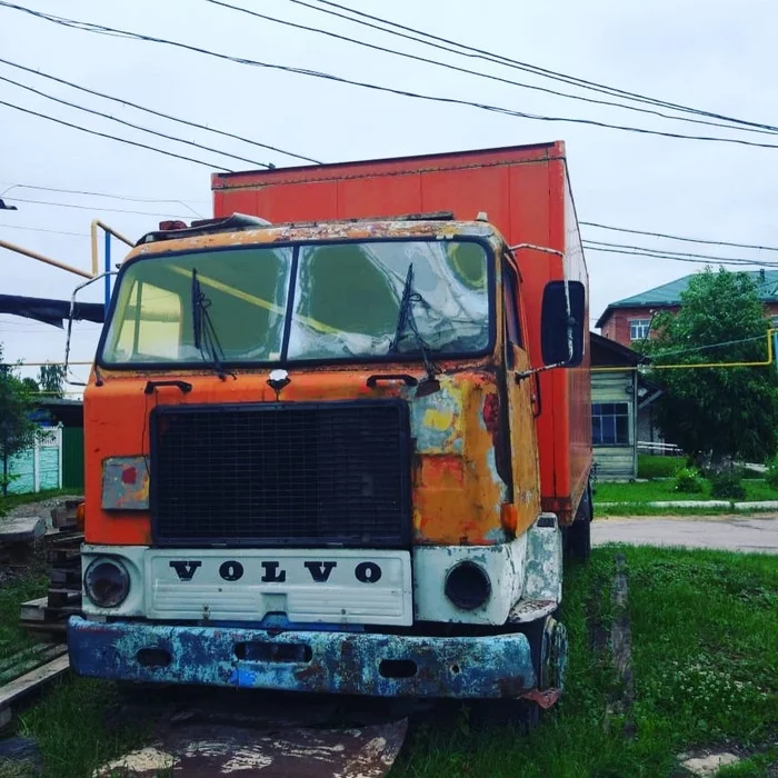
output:
[[[677,313],[655,318],[655,366],[759,362],[767,359],[765,308],[746,273],[695,276]],[[776,365],[654,370],[665,389],[657,421],[667,440],[698,459],[764,461],[778,445]]]

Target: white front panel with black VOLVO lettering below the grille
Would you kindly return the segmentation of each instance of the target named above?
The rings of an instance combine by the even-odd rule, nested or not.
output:
[[[151,619],[412,624],[408,551],[148,549],[144,567]]]

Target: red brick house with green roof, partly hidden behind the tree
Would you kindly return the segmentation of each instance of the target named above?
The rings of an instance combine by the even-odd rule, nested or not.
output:
[[[756,270],[746,273],[757,285],[759,298],[765,303],[772,326],[778,326],[778,270]],[[596,327],[605,338],[621,346],[635,346],[650,337],[651,320],[660,311],[676,312],[680,308],[681,292],[687,288],[691,276],[649,289],[624,300],[611,302]]]

